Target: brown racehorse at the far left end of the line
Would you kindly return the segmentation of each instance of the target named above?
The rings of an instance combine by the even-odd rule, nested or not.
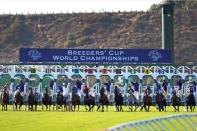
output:
[[[2,111],[7,111],[8,103],[9,103],[9,92],[7,91],[7,88],[5,86],[1,94]]]

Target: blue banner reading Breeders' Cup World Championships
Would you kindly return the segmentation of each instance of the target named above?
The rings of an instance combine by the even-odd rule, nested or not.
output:
[[[161,49],[36,49],[21,48],[21,63],[171,63]]]

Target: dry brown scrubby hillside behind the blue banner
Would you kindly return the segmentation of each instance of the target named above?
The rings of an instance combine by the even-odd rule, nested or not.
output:
[[[0,63],[18,49],[161,48],[160,12],[0,16]],[[197,11],[175,12],[175,62],[197,64]]]

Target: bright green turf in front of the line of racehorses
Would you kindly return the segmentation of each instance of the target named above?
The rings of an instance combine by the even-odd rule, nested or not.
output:
[[[49,112],[41,110],[41,107],[38,111],[32,112],[24,111],[24,107],[21,111],[12,111],[12,106],[9,106],[8,111],[0,110],[0,131],[100,131],[125,122],[183,113],[187,113],[183,107],[180,108],[180,112],[174,112],[172,107],[168,107],[167,112],[158,112],[155,107],[151,107],[150,112],[140,112],[139,109],[129,112],[128,107],[124,107],[124,112],[115,112],[111,106],[108,112],[86,112],[83,106],[79,112]],[[193,119],[197,122],[197,118]],[[183,130],[182,127],[178,128]]]

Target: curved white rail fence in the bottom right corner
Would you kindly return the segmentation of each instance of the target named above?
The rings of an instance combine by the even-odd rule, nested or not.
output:
[[[130,123],[123,123],[108,129],[108,131],[155,131],[155,130],[176,130],[178,131],[178,126],[182,128],[182,130],[187,131],[197,131],[197,114],[179,114],[179,115],[171,115],[160,118],[153,118],[149,120],[143,121],[135,121]],[[174,122],[178,124],[174,124]],[[169,125],[173,127],[169,128]],[[187,126],[185,126],[187,125]],[[189,127],[189,128],[188,128]]]

